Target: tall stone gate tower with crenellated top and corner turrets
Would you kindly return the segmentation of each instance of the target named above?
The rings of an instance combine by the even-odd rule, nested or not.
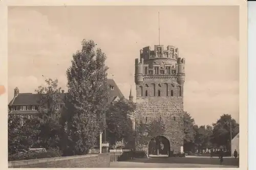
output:
[[[136,122],[150,123],[160,118],[170,152],[183,150],[183,85],[185,59],[175,46],[155,45],[140,50],[135,60]],[[145,146],[147,147],[147,146]]]

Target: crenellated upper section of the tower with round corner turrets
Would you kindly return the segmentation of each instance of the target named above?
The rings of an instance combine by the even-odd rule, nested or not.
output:
[[[185,82],[185,59],[179,57],[179,49],[175,46],[155,45],[140,50],[140,58],[135,60],[135,83],[142,85],[144,81],[168,79],[179,83],[183,95]]]

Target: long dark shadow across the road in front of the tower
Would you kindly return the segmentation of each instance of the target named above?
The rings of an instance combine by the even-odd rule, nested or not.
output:
[[[125,162],[141,162],[141,163],[175,163],[175,164],[212,164],[219,165],[220,161],[218,158],[170,158],[170,157],[161,157],[161,158],[140,158],[140,159],[131,159],[126,160]],[[222,165],[228,166],[239,166],[239,159],[234,158],[224,158]]]

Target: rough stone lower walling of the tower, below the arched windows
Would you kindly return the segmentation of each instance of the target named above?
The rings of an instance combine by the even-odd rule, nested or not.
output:
[[[170,151],[180,152],[183,146],[183,98],[182,96],[138,97],[136,119],[149,123],[160,118],[165,124],[165,136],[170,141]]]

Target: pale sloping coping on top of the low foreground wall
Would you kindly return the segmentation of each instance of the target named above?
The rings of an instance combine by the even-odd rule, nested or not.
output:
[[[103,154],[88,154],[88,155],[76,155],[76,156],[65,156],[65,157],[54,157],[54,158],[8,161],[8,167],[12,167],[14,165],[29,165],[34,163],[51,162],[51,161],[58,161],[58,160],[69,160],[74,158],[97,157],[99,155],[103,155]]]

